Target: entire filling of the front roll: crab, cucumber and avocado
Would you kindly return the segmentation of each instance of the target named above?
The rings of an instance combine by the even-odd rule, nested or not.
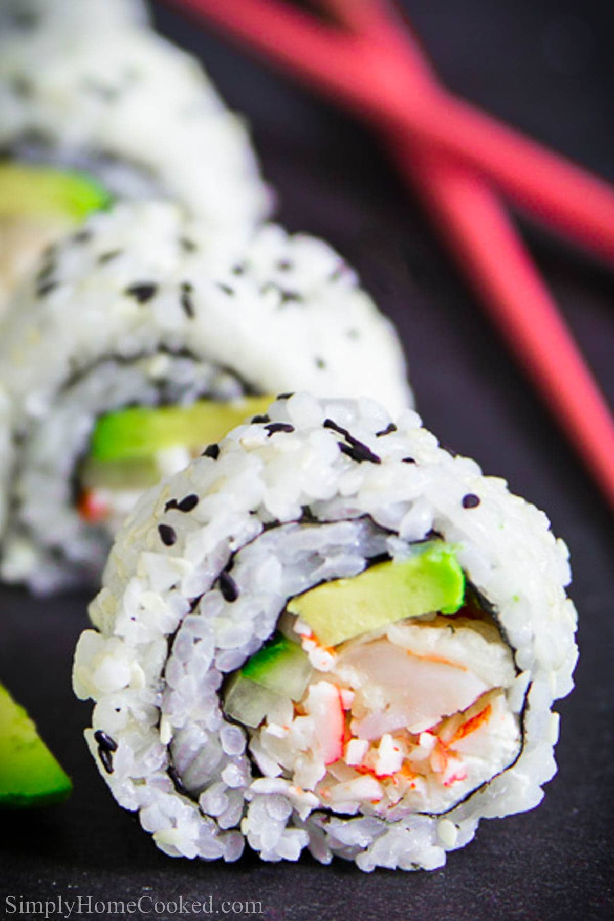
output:
[[[426,554],[437,550],[434,542]],[[264,775],[283,775],[333,812],[445,811],[520,750],[519,718],[505,697],[516,679],[513,655],[475,593],[460,609],[450,594],[457,611],[447,615],[418,606],[399,619],[384,592],[387,583],[393,594],[395,580],[407,583],[397,578],[403,564],[377,568],[384,569],[373,580],[381,595],[359,576],[340,580],[329,593],[332,607],[321,589],[307,593],[311,604],[299,598],[294,606],[307,607],[325,633],[353,634],[356,609],[368,620],[368,605],[390,624],[325,647],[309,624],[284,614],[284,634],[229,680],[226,715],[249,727],[249,750]],[[445,595],[449,576],[440,564],[430,584],[410,582],[409,606],[411,589]],[[353,582],[357,597],[344,603]]]

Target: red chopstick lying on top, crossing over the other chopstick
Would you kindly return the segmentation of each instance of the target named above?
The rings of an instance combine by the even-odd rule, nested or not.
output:
[[[361,116],[415,134],[463,157],[517,204],[562,234],[614,261],[614,191],[570,160],[550,152],[443,87],[428,93],[380,69],[365,74],[377,53],[363,37],[320,24],[283,0],[168,0],[206,16],[264,52],[284,70],[329,91]],[[360,3],[360,0],[356,0]]]

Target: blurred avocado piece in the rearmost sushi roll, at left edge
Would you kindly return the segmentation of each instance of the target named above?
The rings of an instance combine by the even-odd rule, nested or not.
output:
[[[0,163],[0,217],[57,217],[78,224],[108,207],[110,195],[85,173],[22,163]]]

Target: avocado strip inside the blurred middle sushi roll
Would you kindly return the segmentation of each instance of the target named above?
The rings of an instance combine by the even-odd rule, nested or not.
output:
[[[183,445],[198,448],[219,441],[249,415],[262,413],[274,397],[242,397],[232,402],[199,400],[189,406],[130,406],[98,419],[90,441],[97,461],[150,457]]]

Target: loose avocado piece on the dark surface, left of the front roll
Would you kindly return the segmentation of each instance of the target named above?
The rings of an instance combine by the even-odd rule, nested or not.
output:
[[[0,684],[0,806],[52,806],[72,788],[26,710]]]

